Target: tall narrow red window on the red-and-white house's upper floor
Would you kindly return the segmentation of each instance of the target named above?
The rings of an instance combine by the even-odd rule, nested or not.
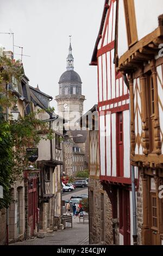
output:
[[[116,114],[117,176],[123,177],[123,114]]]

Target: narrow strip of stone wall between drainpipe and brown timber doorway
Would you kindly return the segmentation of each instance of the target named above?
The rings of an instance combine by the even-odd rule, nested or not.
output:
[[[142,179],[139,176],[139,190],[136,192],[137,198],[137,244],[142,245],[142,224],[143,224],[143,191]]]

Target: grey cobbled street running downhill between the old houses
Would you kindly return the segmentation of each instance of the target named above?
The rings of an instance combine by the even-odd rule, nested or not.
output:
[[[87,188],[77,188],[73,192],[65,192],[62,200],[68,200],[73,195],[87,194]],[[83,224],[83,220],[79,222],[79,218],[72,218],[73,224],[66,223],[64,230],[54,231],[53,233],[45,233],[44,238],[37,238],[12,243],[11,245],[88,245],[89,244],[89,222]]]

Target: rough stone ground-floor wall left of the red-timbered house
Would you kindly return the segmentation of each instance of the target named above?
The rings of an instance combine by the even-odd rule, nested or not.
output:
[[[89,179],[90,194],[90,243],[112,244],[112,210],[108,195],[103,191],[102,185],[97,179]],[[91,198],[93,194],[93,198]],[[101,194],[104,194],[104,234],[102,235],[101,222]],[[104,237],[104,241],[102,239]]]

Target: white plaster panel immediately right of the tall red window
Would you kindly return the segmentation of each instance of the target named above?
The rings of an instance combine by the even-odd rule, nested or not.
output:
[[[129,111],[123,111],[124,177],[130,178],[130,127]]]

